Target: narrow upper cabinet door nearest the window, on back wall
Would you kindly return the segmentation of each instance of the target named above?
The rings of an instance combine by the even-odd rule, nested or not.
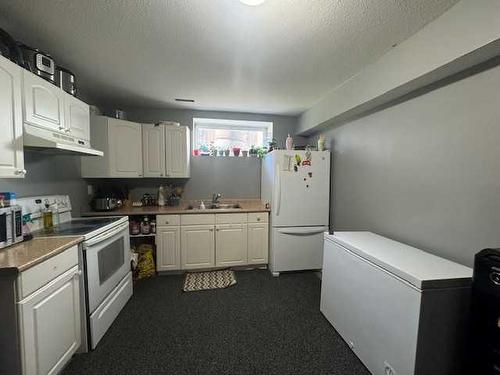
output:
[[[166,126],[166,176],[189,177],[189,129]]]

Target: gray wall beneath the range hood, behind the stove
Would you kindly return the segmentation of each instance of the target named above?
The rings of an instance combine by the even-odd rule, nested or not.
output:
[[[87,209],[87,188],[80,177],[80,158],[42,152],[24,152],[24,179],[0,179],[0,191],[13,191],[18,197],[69,194],[73,214]]]

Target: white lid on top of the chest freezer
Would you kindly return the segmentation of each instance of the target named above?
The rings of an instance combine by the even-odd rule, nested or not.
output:
[[[421,290],[470,286],[472,281],[472,268],[375,233],[325,233],[325,240],[347,248]]]

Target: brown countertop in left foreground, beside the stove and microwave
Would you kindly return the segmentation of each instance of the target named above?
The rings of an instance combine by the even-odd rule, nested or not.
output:
[[[25,271],[82,241],[83,237],[75,236],[35,237],[0,249],[0,273]]]

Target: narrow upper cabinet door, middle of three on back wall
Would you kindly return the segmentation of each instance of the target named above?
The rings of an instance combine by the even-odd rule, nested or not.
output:
[[[144,177],[165,176],[165,126],[142,125]]]

